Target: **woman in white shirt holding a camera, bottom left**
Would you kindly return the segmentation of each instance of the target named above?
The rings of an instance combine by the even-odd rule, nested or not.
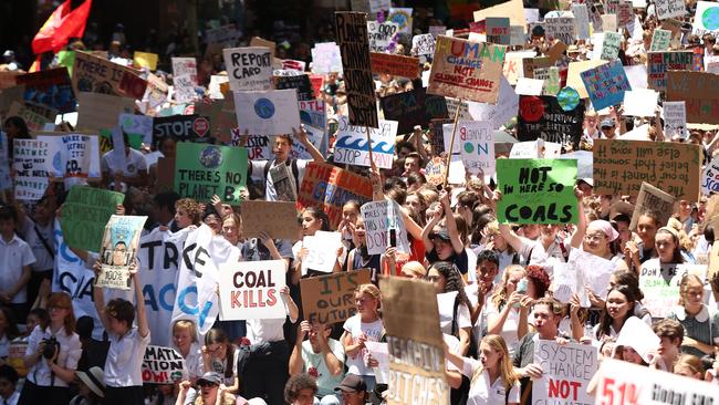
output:
[[[50,324],[35,326],[28,340],[29,371],[18,401],[21,405],[64,405],[70,401],[70,383],[82,355],[72,300],[67,293],[55,292],[50,295],[48,309]]]

